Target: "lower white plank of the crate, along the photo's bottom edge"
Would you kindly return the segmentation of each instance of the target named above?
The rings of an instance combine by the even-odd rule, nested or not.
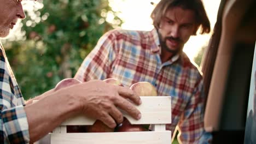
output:
[[[51,134],[51,143],[170,144],[171,131]]]

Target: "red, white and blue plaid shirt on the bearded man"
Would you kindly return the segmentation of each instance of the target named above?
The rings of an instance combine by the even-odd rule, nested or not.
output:
[[[183,143],[208,143],[211,135],[203,129],[202,75],[185,53],[165,63],[160,53],[156,29],[116,29],[103,35],[75,78],[89,81],[113,77],[126,87],[139,81],[150,82],[158,95],[172,97],[172,124],[167,125],[167,130],[174,131],[178,125]]]

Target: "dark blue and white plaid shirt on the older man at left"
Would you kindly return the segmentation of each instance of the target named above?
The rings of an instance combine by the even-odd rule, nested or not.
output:
[[[0,143],[28,143],[24,98],[0,43]]]

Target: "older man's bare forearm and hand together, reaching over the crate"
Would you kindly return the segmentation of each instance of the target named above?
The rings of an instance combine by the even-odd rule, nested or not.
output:
[[[138,95],[129,88],[100,80],[63,87],[58,91],[52,89],[37,98],[40,98],[37,103],[25,106],[31,142],[78,113],[96,118],[110,128],[114,128],[116,122],[123,122],[119,109],[136,119],[141,118],[141,113],[132,104],[141,104]]]

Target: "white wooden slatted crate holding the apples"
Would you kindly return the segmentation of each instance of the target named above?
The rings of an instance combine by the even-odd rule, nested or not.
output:
[[[92,125],[95,119],[77,116],[67,119],[50,134],[51,144],[106,143],[141,144],[171,143],[171,131],[165,124],[171,123],[171,97],[141,97],[142,104],[136,106],[142,113],[138,121],[123,112],[131,124],[152,124],[152,131],[113,132],[113,133],[66,133],[66,125]]]

